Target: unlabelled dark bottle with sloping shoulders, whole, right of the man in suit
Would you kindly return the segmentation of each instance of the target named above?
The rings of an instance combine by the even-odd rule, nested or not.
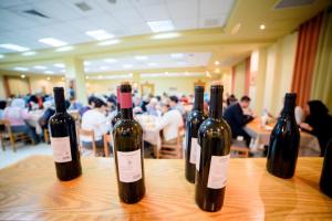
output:
[[[293,177],[299,154],[300,131],[294,116],[295,101],[295,93],[286,94],[284,106],[268,147],[268,171],[284,179]]]

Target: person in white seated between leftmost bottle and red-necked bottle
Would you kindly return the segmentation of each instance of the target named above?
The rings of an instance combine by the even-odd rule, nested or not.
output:
[[[97,155],[104,152],[103,135],[107,134],[110,127],[106,123],[106,103],[101,98],[94,99],[94,108],[89,109],[82,117],[82,129],[94,131]],[[92,149],[92,138],[81,136],[83,147]]]

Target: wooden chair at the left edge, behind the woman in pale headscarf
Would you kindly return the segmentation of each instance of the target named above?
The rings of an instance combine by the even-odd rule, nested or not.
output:
[[[1,141],[1,146],[2,146],[3,151],[6,150],[3,140],[9,140],[10,141],[13,151],[17,151],[17,146],[15,146],[17,140],[22,140],[22,141],[30,140],[31,144],[34,145],[34,141],[27,134],[24,134],[24,133],[13,133],[11,130],[11,126],[10,126],[9,120],[0,119],[0,125],[4,126],[4,130],[0,131],[0,141]]]

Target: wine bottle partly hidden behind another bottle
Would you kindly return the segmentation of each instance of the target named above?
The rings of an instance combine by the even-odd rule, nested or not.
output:
[[[204,86],[195,86],[195,102],[193,112],[187,118],[186,125],[186,179],[189,182],[195,183],[195,173],[196,173],[196,146],[198,137],[198,128],[201,123],[207,118],[203,112],[204,104]]]

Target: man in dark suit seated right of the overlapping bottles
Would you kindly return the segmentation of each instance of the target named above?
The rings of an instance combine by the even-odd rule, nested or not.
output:
[[[231,129],[232,138],[238,136],[243,137],[247,146],[250,145],[250,136],[243,130],[243,126],[253,119],[252,115],[245,115],[243,109],[248,109],[250,97],[242,96],[240,102],[237,102],[226,108],[224,118]]]

